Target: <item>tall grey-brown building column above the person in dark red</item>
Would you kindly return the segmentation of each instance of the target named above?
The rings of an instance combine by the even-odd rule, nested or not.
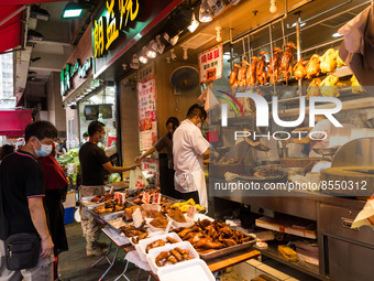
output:
[[[53,72],[45,85],[48,104],[48,120],[56,126],[58,137],[66,139],[66,110],[61,97],[59,73]]]

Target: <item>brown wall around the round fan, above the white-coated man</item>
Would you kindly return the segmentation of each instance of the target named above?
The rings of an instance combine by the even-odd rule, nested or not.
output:
[[[183,91],[180,95],[174,95],[174,88],[170,85],[170,75],[174,69],[180,66],[193,66],[198,69],[197,64],[189,64],[185,62],[170,62],[166,60],[155,61],[155,77],[157,89],[157,121],[158,121],[158,137],[167,133],[165,122],[167,118],[174,116],[182,122],[186,119],[188,108],[197,102],[200,96],[200,88],[195,90]]]

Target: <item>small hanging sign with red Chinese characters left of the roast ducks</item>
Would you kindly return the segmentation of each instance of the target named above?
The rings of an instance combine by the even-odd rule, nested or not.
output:
[[[219,44],[199,54],[200,83],[221,78],[223,66],[223,47]]]

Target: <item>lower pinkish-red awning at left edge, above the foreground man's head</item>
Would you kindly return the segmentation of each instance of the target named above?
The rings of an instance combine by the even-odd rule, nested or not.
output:
[[[31,121],[31,110],[1,110],[0,136],[23,136],[24,128]]]

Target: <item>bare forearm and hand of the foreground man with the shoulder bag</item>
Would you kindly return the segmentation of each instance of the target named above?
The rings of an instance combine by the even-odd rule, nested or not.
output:
[[[42,239],[41,257],[42,258],[50,257],[51,253],[53,252],[54,245],[46,223],[43,198],[42,197],[28,198],[28,202],[31,220],[33,221],[34,227]]]

